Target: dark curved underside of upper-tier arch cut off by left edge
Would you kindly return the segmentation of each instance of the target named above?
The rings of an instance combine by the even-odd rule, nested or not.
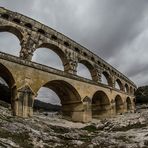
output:
[[[19,39],[20,42],[22,41],[23,34],[16,27],[8,26],[8,25],[6,25],[6,26],[4,26],[4,25],[1,26],[0,25],[0,32],[10,32],[10,33],[14,34]]]

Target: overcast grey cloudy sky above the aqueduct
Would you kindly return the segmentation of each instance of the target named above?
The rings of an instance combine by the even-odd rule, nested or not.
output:
[[[67,35],[138,86],[148,85],[148,0],[1,0],[0,5]],[[3,49],[19,48],[5,33],[0,40]]]

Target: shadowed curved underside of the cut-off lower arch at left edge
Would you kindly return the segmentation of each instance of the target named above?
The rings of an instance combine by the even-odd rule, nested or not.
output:
[[[11,103],[12,112],[15,115],[15,97],[16,97],[16,86],[15,86],[15,80],[12,75],[12,73],[9,71],[9,69],[0,63],[0,77],[8,84],[8,89],[10,92],[10,98],[6,102]],[[2,94],[0,94],[1,97]],[[3,100],[5,101],[5,100]]]

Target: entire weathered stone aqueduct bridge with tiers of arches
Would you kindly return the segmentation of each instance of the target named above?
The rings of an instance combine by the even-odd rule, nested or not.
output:
[[[0,32],[4,31],[16,35],[21,45],[20,57],[0,53],[0,76],[11,89],[14,115],[31,116],[34,98],[43,86],[59,96],[63,114],[73,121],[88,122],[92,117],[134,110],[136,85],[83,46],[31,18],[0,8]],[[40,47],[53,50],[64,71],[32,62]],[[92,80],[77,76],[78,63],[89,69]],[[101,83],[102,74],[108,85]]]

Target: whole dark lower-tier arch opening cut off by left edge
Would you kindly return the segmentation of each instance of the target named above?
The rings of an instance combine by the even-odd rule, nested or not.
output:
[[[11,72],[0,63],[0,99],[11,104],[12,109],[14,109],[15,94],[16,87],[14,78]]]

